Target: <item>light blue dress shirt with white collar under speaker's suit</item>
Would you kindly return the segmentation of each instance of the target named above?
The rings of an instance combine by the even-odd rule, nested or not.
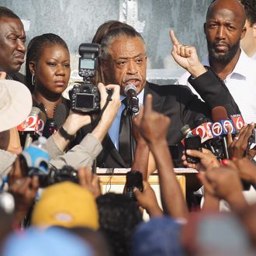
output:
[[[144,89],[140,92],[139,95],[137,95],[137,97],[139,99],[140,105],[143,105]],[[121,102],[125,98],[126,98],[125,96],[120,95]],[[119,126],[120,126],[120,120],[121,120],[121,116],[122,116],[122,112],[123,112],[124,108],[125,108],[125,106],[122,103],[121,106],[119,107],[116,118],[114,119],[112,126],[109,129],[109,137],[111,138],[112,143],[115,145],[117,150],[119,150]]]

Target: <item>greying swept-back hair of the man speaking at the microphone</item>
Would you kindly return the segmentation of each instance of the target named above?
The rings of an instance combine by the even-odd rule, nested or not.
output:
[[[111,45],[112,41],[118,38],[119,36],[126,36],[129,38],[136,38],[139,37],[141,41],[145,44],[143,37],[138,33],[133,27],[119,27],[116,29],[112,29],[109,33],[102,38],[101,43],[101,58],[102,60],[106,60],[109,57],[109,46]]]

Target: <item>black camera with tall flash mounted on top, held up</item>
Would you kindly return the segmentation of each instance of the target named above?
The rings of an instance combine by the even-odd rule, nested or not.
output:
[[[79,55],[81,57],[79,57],[78,74],[83,78],[83,82],[75,84],[69,91],[71,110],[83,113],[99,112],[99,89],[92,84],[98,66],[99,44],[81,43]]]

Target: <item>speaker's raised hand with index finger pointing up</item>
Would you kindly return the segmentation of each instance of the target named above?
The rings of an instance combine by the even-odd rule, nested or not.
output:
[[[206,68],[199,62],[199,57],[196,53],[195,47],[184,45],[179,43],[175,32],[171,29],[170,31],[171,42],[173,43],[173,48],[171,50],[171,55],[174,60],[187,71],[194,78],[198,77],[200,74],[206,72]]]

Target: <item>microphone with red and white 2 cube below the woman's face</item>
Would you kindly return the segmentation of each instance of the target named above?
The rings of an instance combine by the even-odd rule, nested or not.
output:
[[[33,106],[29,116],[23,121],[17,129],[26,134],[26,140],[24,148],[29,147],[33,138],[43,135],[43,127],[46,123],[47,116],[39,108]]]

